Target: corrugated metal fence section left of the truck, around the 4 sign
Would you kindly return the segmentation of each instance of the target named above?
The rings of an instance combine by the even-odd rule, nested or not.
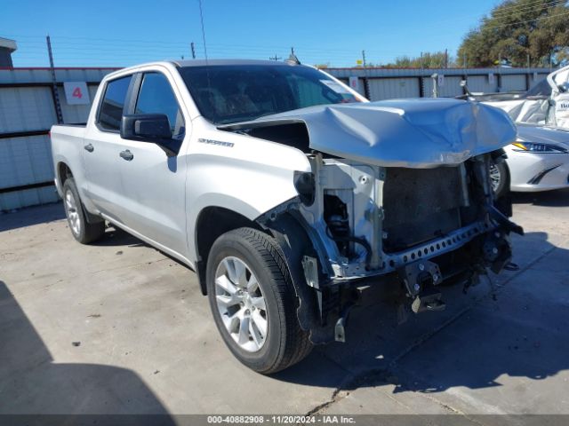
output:
[[[87,84],[89,99],[115,68],[55,68],[63,122],[85,122],[91,104],[68,105],[64,82]],[[0,68],[0,211],[57,201],[48,131],[58,122],[50,68]]]

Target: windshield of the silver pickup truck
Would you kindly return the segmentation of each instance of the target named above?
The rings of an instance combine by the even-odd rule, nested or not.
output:
[[[210,122],[254,120],[307,106],[358,102],[317,69],[287,64],[181,67],[200,113]]]

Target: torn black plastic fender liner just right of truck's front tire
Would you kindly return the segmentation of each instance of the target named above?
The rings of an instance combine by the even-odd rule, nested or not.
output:
[[[302,268],[304,256],[318,257],[313,242],[300,222],[289,213],[278,215],[265,224],[268,231],[278,241],[288,264],[294,289],[299,299],[297,315],[301,328],[310,331],[310,341],[315,344],[329,343],[334,340],[334,321],[322,325],[318,306],[317,290],[306,282]],[[321,268],[320,268],[321,269]],[[323,276],[324,278],[324,276]]]

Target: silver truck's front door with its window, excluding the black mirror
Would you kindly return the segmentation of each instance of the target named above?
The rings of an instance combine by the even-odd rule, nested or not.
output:
[[[168,146],[176,155],[168,156],[152,141],[122,139],[121,151],[132,154],[120,168],[124,225],[162,248],[186,256],[187,164],[180,149],[189,137],[189,117],[184,117],[167,75],[148,71],[137,76],[137,82],[129,114],[165,114],[172,130]]]

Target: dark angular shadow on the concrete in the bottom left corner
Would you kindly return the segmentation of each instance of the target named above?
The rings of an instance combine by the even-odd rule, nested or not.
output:
[[[160,414],[144,420],[175,424],[152,390],[131,370],[53,362],[42,338],[1,280],[0,341],[0,414],[66,414],[71,418],[60,419],[62,423],[93,424],[109,419],[89,420],[82,414]],[[71,339],[68,344],[71,346]],[[43,422],[41,417],[28,420]],[[123,415],[116,420],[133,419]]]

